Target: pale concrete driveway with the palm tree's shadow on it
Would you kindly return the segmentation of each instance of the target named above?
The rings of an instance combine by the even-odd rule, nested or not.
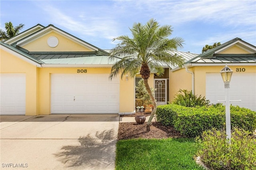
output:
[[[0,169],[114,169],[119,115],[1,115],[0,122]]]

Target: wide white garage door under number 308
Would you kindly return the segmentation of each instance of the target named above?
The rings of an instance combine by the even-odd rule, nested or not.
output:
[[[119,79],[109,74],[52,74],[51,113],[119,113]]]

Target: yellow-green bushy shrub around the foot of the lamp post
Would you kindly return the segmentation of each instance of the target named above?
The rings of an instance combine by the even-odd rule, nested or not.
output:
[[[210,169],[256,169],[256,138],[248,131],[234,128],[228,144],[225,130],[207,130],[202,138],[196,138],[196,145],[197,156]]]

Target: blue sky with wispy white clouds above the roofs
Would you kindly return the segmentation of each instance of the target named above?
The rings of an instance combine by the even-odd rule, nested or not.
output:
[[[25,24],[22,31],[53,24],[101,49],[150,18],[171,25],[170,38],[185,40],[179,51],[201,53],[206,44],[236,37],[256,45],[256,0],[0,0],[1,29],[9,21]]]

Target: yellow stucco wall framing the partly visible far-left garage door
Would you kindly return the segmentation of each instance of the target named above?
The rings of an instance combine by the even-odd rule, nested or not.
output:
[[[38,68],[0,49],[0,73],[26,73],[26,115],[38,113]]]

